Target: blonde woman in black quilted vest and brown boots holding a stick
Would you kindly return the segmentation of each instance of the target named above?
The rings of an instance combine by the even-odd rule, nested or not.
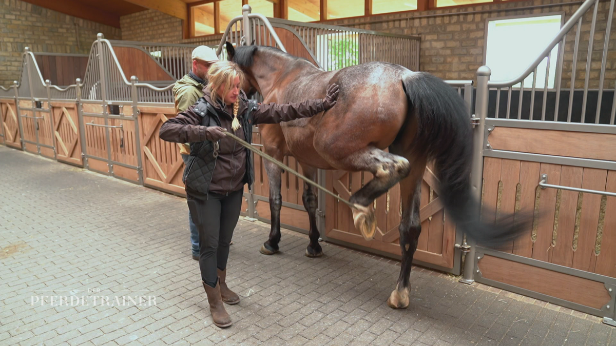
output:
[[[160,138],[190,143],[183,180],[188,208],[199,230],[201,281],[214,324],[224,328],[232,323],[222,303],[240,302],[225,283],[229,243],[240,217],[244,184],[251,186],[254,178],[251,153],[224,131],[230,129],[251,142],[254,124],[291,121],[330,109],[336,104],[338,86],[328,87],[323,100],[265,105],[246,99],[240,89],[244,74],[233,62],[214,63],[208,81],[195,105],[161,126]]]

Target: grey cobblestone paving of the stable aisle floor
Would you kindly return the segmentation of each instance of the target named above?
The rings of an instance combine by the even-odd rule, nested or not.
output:
[[[182,198],[0,147],[0,345],[616,345],[598,318],[422,268],[392,310],[397,262],[327,243],[308,259],[286,230],[264,256],[269,228],[245,221],[221,330],[186,219]]]

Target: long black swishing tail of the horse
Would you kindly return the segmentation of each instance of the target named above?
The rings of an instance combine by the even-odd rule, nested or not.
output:
[[[471,194],[472,127],[464,100],[429,73],[408,73],[402,82],[407,117],[418,120],[414,144],[434,159],[445,211],[484,246],[500,247],[517,238],[529,222],[525,215],[516,215],[516,220],[514,215],[499,215],[495,225],[480,221],[480,202]]]

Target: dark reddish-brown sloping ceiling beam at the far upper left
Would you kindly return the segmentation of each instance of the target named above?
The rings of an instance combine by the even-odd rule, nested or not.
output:
[[[73,17],[120,28],[120,15],[97,9],[78,0],[23,0],[30,4],[54,10]]]

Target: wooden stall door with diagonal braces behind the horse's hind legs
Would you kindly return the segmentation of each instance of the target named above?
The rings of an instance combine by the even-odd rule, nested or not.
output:
[[[359,190],[371,179],[372,175],[367,172],[328,171],[326,188],[348,201],[353,192]],[[436,182],[437,179],[432,171],[426,169],[421,187],[421,209],[419,211],[421,236],[419,236],[414,259],[452,269],[456,227],[448,215],[444,214],[443,206],[435,190]],[[328,196],[325,206],[328,238],[387,252],[395,257],[402,255],[398,230],[402,217],[399,184],[377,198],[373,204],[377,228],[375,238],[370,241],[365,240],[360,231],[355,228],[352,211],[346,204]]]

